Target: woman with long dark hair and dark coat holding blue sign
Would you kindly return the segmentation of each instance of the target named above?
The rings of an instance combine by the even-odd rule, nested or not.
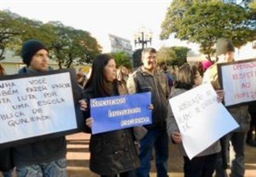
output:
[[[84,88],[84,99],[126,95],[126,89],[116,80],[116,62],[109,54],[101,54],[92,62],[91,76]],[[91,131],[93,118],[90,107],[84,112],[86,130]],[[107,117],[106,117],[107,119]],[[90,169],[104,177],[135,177],[140,166],[139,156],[134,145],[133,129],[108,131],[91,135]]]

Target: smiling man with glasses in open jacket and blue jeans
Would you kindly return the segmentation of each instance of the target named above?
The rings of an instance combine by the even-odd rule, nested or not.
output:
[[[165,73],[157,70],[157,52],[146,48],[141,53],[142,66],[128,77],[129,94],[151,92],[153,124],[145,125],[147,135],[140,141],[140,168],[138,176],[148,177],[153,148],[156,154],[158,177],[167,176],[168,136],[166,132],[167,98],[169,86]]]

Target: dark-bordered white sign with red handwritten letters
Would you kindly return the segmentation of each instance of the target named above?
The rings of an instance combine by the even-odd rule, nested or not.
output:
[[[226,107],[256,101],[256,58],[218,64]]]

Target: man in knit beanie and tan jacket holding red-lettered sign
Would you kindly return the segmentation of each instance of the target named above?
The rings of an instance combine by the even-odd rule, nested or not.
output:
[[[234,45],[231,40],[221,38],[216,42],[216,56],[218,62],[210,66],[203,75],[203,82],[210,82],[215,90],[220,89],[220,82],[218,80],[217,64],[234,62]],[[224,90],[225,91],[225,90]],[[227,177],[228,174],[225,168],[225,160],[228,162],[229,156],[229,142],[231,141],[234,148],[234,160],[231,164],[231,177],[243,177],[245,175],[245,147],[247,131],[250,126],[250,115],[248,113],[247,105],[240,105],[228,108],[228,112],[232,115],[238,123],[239,128],[228,133],[222,137],[222,156],[218,158],[216,163],[216,177]]]

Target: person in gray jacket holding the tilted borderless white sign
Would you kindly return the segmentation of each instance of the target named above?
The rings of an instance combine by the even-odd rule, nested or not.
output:
[[[183,65],[178,70],[178,80],[174,86],[172,94],[169,98],[181,95],[184,92],[195,87],[194,81],[200,76],[192,74],[190,68],[187,65]],[[208,149],[203,150],[200,154],[193,157],[191,160],[185,153],[182,145],[182,135],[178,129],[178,124],[172,113],[172,107],[168,107],[167,115],[167,132],[170,137],[171,143],[177,143],[184,156],[184,177],[211,177],[214,174],[215,162],[217,159],[217,153],[221,151],[220,142],[217,141],[209,146]]]

